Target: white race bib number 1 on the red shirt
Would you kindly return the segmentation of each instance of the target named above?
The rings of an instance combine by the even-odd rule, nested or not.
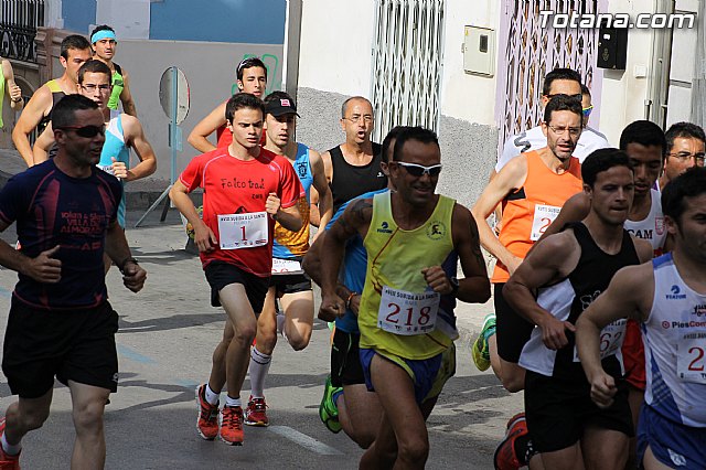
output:
[[[254,248],[267,245],[267,212],[218,215],[221,249]]]

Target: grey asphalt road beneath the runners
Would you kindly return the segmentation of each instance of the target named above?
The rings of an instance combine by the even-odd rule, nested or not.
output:
[[[108,274],[111,303],[121,319],[117,334],[120,383],[105,417],[106,468],[356,468],[362,450],[343,432],[328,431],[318,418],[330,335],[319,321],[301,352],[280,339],[266,389],[270,427],[247,427],[243,447],[197,437],[194,387],[207,378],[224,312],[210,307],[200,261],[183,250],[185,236],[178,214],[172,210],[160,223],[158,212],[138,229],[131,228],[130,220],[133,223],[141,213],[128,213],[128,242],[148,270],[145,290],[133,295],[122,287],[117,269]],[[14,243],[13,227],[2,238]],[[0,269],[3,325],[15,281],[14,273]],[[461,321],[462,331],[470,334],[482,316],[466,314],[472,321]],[[475,370],[468,343],[468,338],[459,342],[457,376],[429,417],[430,469],[492,469],[493,450],[505,424],[522,408],[521,394],[510,395],[492,373]],[[246,380],[244,398],[248,387]],[[0,375],[0,408],[12,400]],[[68,468],[72,445],[71,397],[57,383],[49,420],[23,440],[22,468]]]

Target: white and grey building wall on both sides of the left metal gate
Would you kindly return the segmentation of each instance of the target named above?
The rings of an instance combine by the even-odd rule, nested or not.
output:
[[[495,162],[495,79],[463,72],[463,26],[498,28],[496,2],[447,1],[441,121],[445,169],[439,191],[469,205],[475,201]],[[373,0],[304,0],[299,60],[297,138],[318,150],[341,143],[341,104],[370,96]],[[402,122],[400,122],[402,124]]]

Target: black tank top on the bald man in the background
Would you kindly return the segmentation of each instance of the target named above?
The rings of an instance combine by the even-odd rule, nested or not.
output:
[[[387,188],[387,177],[379,167],[382,161],[382,146],[373,142],[373,159],[363,167],[355,167],[345,161],[341,146],[329,150],[333,168],[331,193],[333,194],[333,213],[350,200]]]

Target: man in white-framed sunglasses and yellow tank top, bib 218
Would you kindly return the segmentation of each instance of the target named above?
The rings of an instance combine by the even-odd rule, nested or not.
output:
[[[339,268],[346,242],[359,235],[368,260],[357,318],[360,357],[367,388],[383,408],[361,467],[424,468],[429,439],[420,405],[452,344],[440,328],[440,296],[484,302],[490,285],[470,212],[435,194],[441,171],[436,135],[419,127],[403,130],[388,168],[395,191],[355,200],[327,232],[320,316],[346,311],[336,293]],[[441,267],[456,254],[466,275],[461,280]]]

